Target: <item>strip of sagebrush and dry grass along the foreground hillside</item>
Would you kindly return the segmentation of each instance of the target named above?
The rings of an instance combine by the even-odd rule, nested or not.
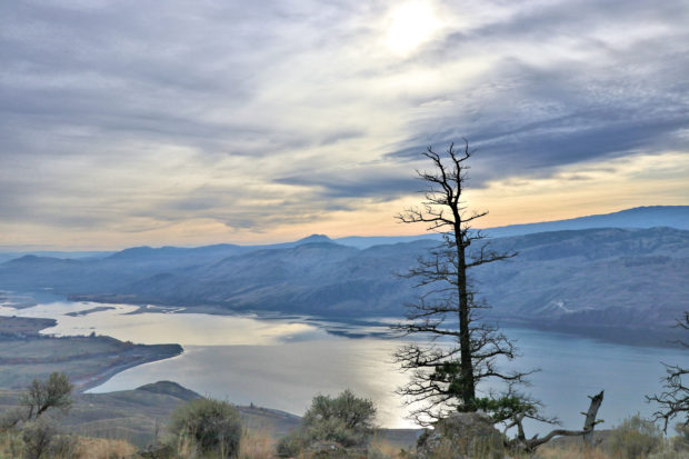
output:
[[[168,386],[180,392],[180,387],[169,382],[160,387],[151,385],[140,392],[154,398],[158,390]],[[13,409],[4,409],[0,417],[0,459],[689,459],[689,429],[680,423],[677,435],[666,438],[653,421],[638,415],[615,429],[597,432],[592,447],[570,438],[531,453],[518,452],[510,450],[509,441],[502,441],[497,431],[490,435],[493,440],[500,440],[498,443],[486,441],[476,426],[472,428],[477,438],[469,450],[468,443],[457,439],[449,442],[440,439],[433,451],[400,447],[399,442],[386,439],[385,430],[376,428],[373,402],[349,390],[337,397],[314,397],[301,423],[280,439],[274,431],[248,427],[242,420],[246,418],[231,403],[190,397],[193,392],[189,391],[182,393],[188,401],[180,399],[158,436],[149,438],[149,445],[140,448],[126,440],[107,438],[107,431],[100,432],[106,438],[69,432],[62,420],[73,406],[71,390],[63,373],[52,373],[46,380],[33,381]]]

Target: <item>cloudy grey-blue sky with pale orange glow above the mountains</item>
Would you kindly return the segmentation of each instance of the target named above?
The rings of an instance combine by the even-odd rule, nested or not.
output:
[[[0,2],[0,248],[417,235],[689,204],[686,0]]]

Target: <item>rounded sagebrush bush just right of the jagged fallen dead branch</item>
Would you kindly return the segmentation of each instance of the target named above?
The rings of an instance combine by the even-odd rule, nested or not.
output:
[[[641,459],[662,447],[662,431],[653,421],[635,415],[612,430],[610,449],[627,459]]]

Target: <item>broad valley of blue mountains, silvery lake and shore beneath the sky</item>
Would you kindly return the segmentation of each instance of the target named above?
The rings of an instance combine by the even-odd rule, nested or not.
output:
[[[689,309],[689,231],[567,229],[488,242],[519,252],[472,278],[493,307],[483,318],[517,340],[521,357],[501,363],[540,369],[529,391],[565,425],[578,425],[600,389],[611,425],[649,416],[643,396],[657,389],[660,362],[686,360],[670,326]],[[61,420],[70,431],[142,446],[198,393],[231,401],[247,426],[277,438],[314,395],[351,388],[376,401],[380,435],[409,446],[417,426],[395,395],[408,375],[390,361],[402,341],[388,326],[423,295],[396,273],[437,243],[313,235],[9,260],[0,263],[0,405],[63,371],[79,392]]]

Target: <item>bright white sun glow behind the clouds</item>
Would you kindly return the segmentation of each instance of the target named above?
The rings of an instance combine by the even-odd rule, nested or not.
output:
[[[399,54],[408,54],[432,37],[439,26],[428,1],[410,1],[393,8],[389,16],[388,47]]]

